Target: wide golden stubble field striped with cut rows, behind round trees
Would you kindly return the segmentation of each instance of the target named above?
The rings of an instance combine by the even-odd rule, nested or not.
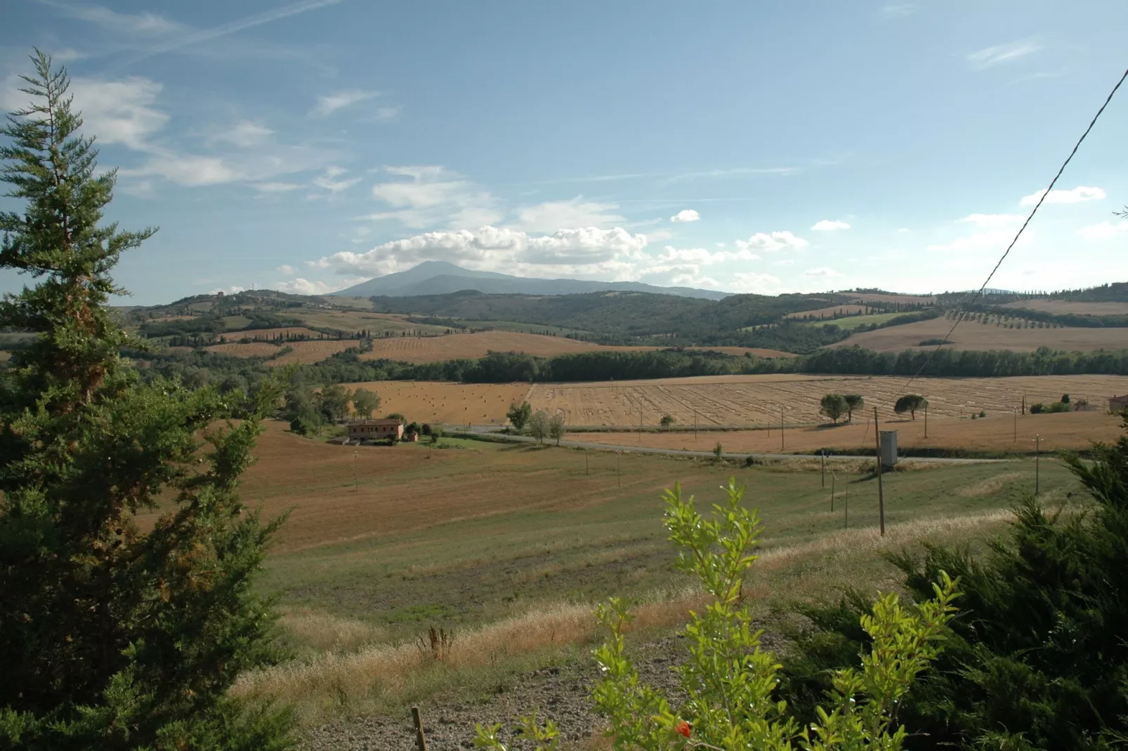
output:
[[[907,379],[882,376],[704,376],[651,381],[537,383],[534,408],[564,410],[572,425],[658,425],[670,415],[679,425],[765,425],[821,423],[825,394],[860,394],[882,419],[893,419],[892,399]],[[1022,404],[1057,401],[1063,394],[1103,408],[1128,392],[1128,376],[1029,376],[1015,378],[918,379],[914,392],[931,401],[932,417],[968,416],[981,409],[1010,412]],[[641,414],[640,414],[641,410]]]

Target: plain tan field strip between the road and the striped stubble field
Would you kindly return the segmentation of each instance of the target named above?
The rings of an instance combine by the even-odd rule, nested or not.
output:
[[[654,449],[712,451],[720,442],[730,453],[808,452],[818,449],[872,451],[874,435],[870,416],[855,415],[854,423],[787,427],[781,448],[779,428],[756,431],[708,431],[694,438],[688,431],[668,433],[637,431],[623,433],[573,433],[570,440],[613,445],[641,445]],[[1100,412],[1073,412],[1055,415],[1020,415],[987,413],[979,419],[940,417],[928,415],[928,438],[924,438],[924,415],[916,419],[900,418],[882,422],[881,430],[897,431],[901,449],[968,449],[972,451],[1034,450],[1034,436],[1041,435],[1042,451],[1057,449],[1087,449],[1093,441],[1112,442],[1122,434],[1122,423],[1116,415]]]

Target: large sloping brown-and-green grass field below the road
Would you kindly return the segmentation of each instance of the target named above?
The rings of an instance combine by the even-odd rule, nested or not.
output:
[[[599,638],[590,612],[607,595],[643,602],[640,626],[669,627],[700,604],[661,527],[659,496],[675,481],[703,504],[720,500],[729,476],[748,484],[746,501],[765,524],[748,589],[763,615],[847,585],[896,586],[884,550],[925,539],[978,547],[1033,472],[1020,461],[888,474],[879,538],[876,483],[860,468],[839,467],[831,500],[810,468],[442,445],[358,450],[267,426],[243,495],[267,516],[290,512],[263,589],[280,595],[282,639],[299,657],[245,675],[238,692],[294,701],[309,723],[440,690],[473,701],[497,690],[500,672]],[[1055,504],[1076,484],[1043,461],[1041,488]],[[430,626],[456,634],[443,663],[414,646]]]

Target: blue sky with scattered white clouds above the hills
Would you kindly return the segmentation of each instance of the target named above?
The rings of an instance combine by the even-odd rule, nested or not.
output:
[[[138,303],[428,259],[733,292],[978,286],[1128,64],[1119,0],[8,0]],[[992,286],[1128,277],[1122,90]],[[8,202],[10,205],[11,202]],[[0,276],[0,289],[24,282]]]

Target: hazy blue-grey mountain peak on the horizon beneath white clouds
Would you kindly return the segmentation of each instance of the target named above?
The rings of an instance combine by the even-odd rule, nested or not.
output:
[[[585,294],[588,292],[651,292],[676,294],[684,298],[721,300],[726,292],[698,290],[690,286],[658,286],[642,282],[589,282],[576,279],[534,279],[495,272],[462,268],[444,260],[425,260],[414,268],[377,276],[347,290],[334,292],[338,297],[370,298],[382,295],[404,298],[424,294],[449,294],[462,290],[477,290],[486,294]]]

